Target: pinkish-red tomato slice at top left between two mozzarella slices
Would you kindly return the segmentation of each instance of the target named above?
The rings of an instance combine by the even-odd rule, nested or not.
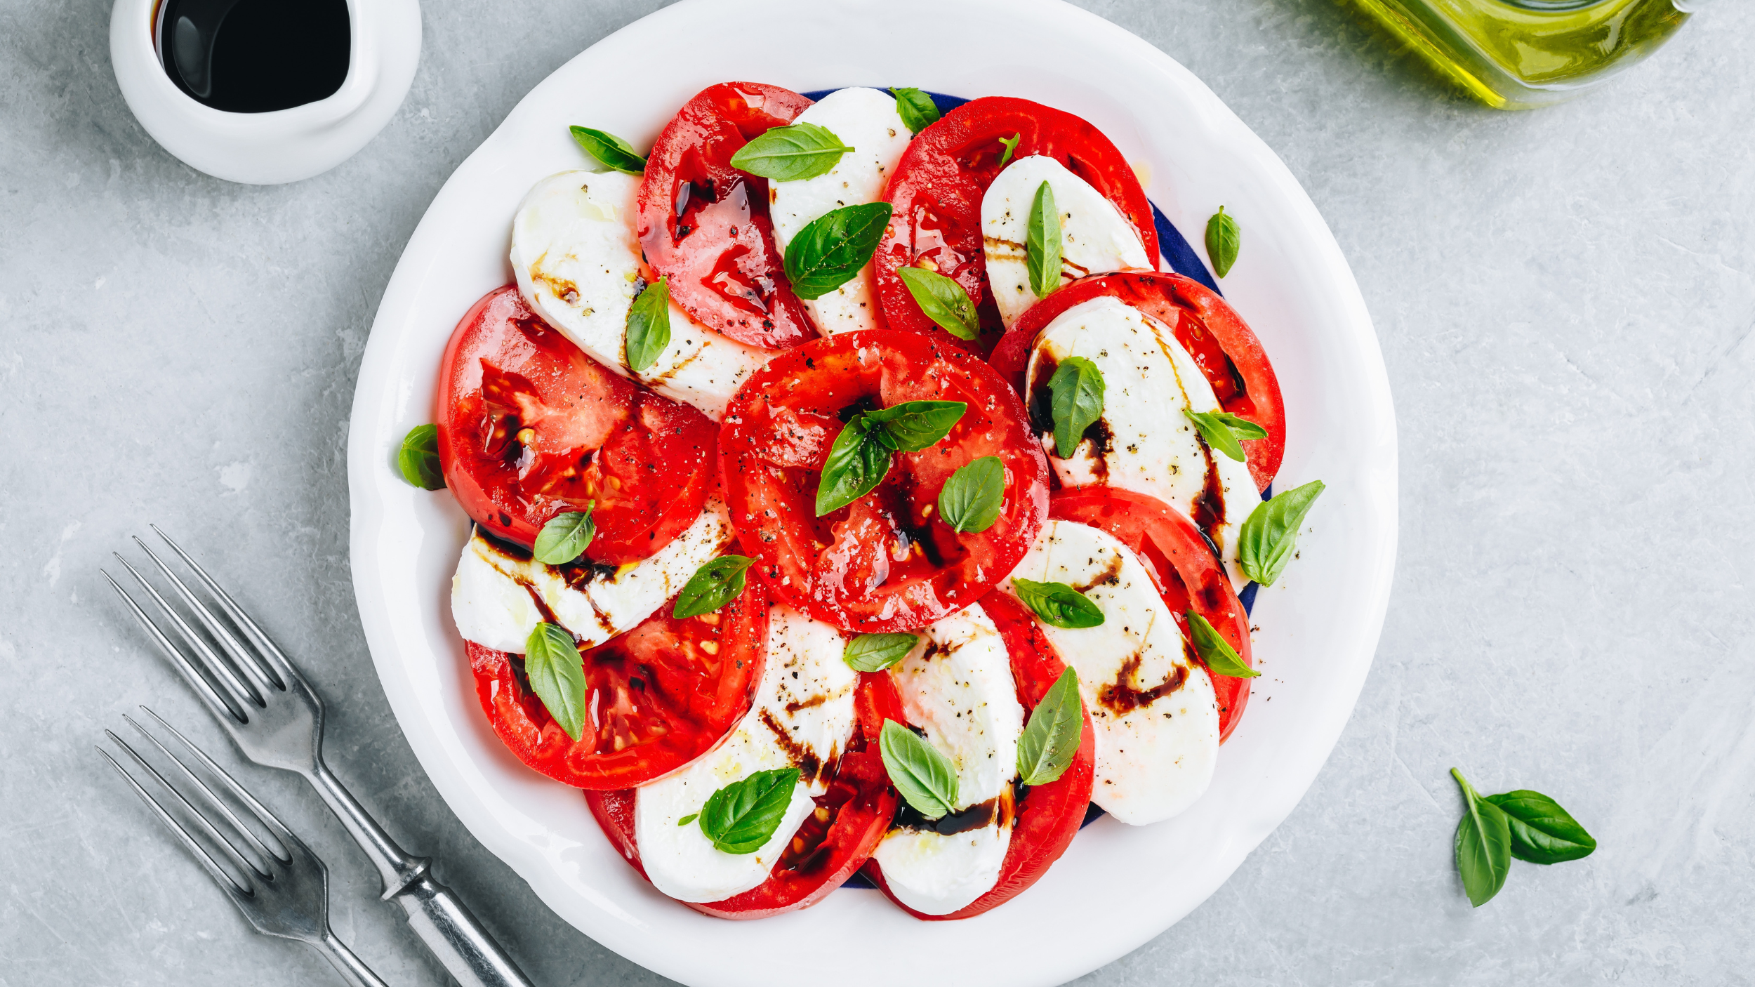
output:
[[[816,339],[774,244],[767,179],[732,167],[744,144],[807,105],[779,86],[707,86],[653,142],[641,181],[637,234],[646,260],[670,277],[670,300],[749,346]]]

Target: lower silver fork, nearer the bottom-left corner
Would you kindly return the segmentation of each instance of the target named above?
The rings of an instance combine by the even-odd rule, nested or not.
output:
[[[207,753],[195,746],[190,738],[183,736],[176,727],[167,724],[158,713],[140,706],[140,710],[158,722],[170,736],[177,738],[195,760],[207,769],[209,776],[219,783],[221,789],[232,792],[239,803],[247,806],[247,810],[267,829],[269,834],[277,843],[276,848],[269,848],[247,825],[244,825],[237,815],[226,806],[205,782],[183,762],[181,757],[170,752],[158,738],[146,731],[133,717],[123,715],[123,720],[135,729],[142,738],[146,738],[153,746],[156,746],[165,757],[168,757],[179,769],[181,776],[188,780],[197,794],[197,801],[205,803],[207,813],[197,808],[188,796],[177,790],[176,785],[165,780],[144,757],[135,753],[128,741],[121,739],[111,731],[104,734],[116,743],[146,774],[154,778],[158,785],[170,792],[177,803],[183,804],[186,815],[193,818],[212,847],[225,857],[232,869],[221,868],[218,861],[207,852],[205,847],[195,836],[190,834],[183,824],[177,822],[158,799],[154,799],[140,782],[128,773],[126,767],[118,762],[111,752],[98,748],[98,753],[111,762],[128,785],[133,789],[135,796],[146,803],[158,822],[163,822],[172,834],[188,847],[195,861],[202,864],[207,876],[214,878],[214,883],[225,890],[232,904],[249,919],[249,924],[256,927],[258,933],[265,936],[279,936],[283,940],[298,940],[311,948],[323,954],[323,959],[330,961],[335,969],[342,975],[353,987],[384,987],[384,982],[377,978],[376,973],[358,955],[353,954],[335,933],[328,927],[328,869],[323,861],[304,845],[302,839],[293,836],[286,824],[281,822],[267,806],[256,801],[254,796],[244,790],[235,778],[225,773],[223,767],[214,764]],[[214,822],[214,813],[218,813],[223,822]],[[232,836],[221,832],[221,827],[230,824],[228,829]],[[246,854],[239,848],[244,843],[249,852]]]

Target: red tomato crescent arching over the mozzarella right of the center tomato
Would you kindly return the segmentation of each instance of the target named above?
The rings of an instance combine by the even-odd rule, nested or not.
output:
[[[1255,486],[1267,490],[1286,453],[1286,406],[1279,400],[1279,378],[1243,316],[1199,281],[1148,270],[1081,277],[1018,316],[993,348],[993,369],[1023,393],[1023,371],[1037,334],[1060,313],[1099,295],[1113,295],[1171,327],[1213,385],[1220,407],[1267,429],[1265,439],[1243,443]]]

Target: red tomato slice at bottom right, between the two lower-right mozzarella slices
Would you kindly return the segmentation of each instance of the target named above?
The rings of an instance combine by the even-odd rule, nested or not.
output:
[[[1006,594],[988,594],[981,597],[981,609],[993,618],[1000,639],[1006,641],[1006,653],[1011,657],[1011,676],[1018,683],[1018,702],[1025,711],[1048,695],[1048,688],[1067,669],[1060,653],[1035,623],[1035,616],[1018,601]],[[930,922],[949,919],[971,919],[997,904],[1011,901],[1027,887],[1037,882],[1048,866],[1065,854],[1067,845],[1085,822],[1085,810],[1092,801],[1092,783],[1097,771],[1097,731],[1092,717],[1085,713],[1085,734],[1079,738],[1079,750],[1072,755],[1072,764],[1065,774],[1048,785],[1021,789],[1014,803],[1014,822],[1011,845],[1006,847],[1006,861],[999,868],[999,882],[981,897],[949,915],[921,915],[902,904],[890,894],[890,885],[883,880],[883,868],[878,861],[865,864],[865,873],[897,908],[914,919]]]

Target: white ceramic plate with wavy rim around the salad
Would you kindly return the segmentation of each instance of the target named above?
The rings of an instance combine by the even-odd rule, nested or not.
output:
[[[1034,98],[1090,119],[1144,162],[1146,191],[1190,241],[1223,204],[1243,225],[1223,288],[1285,390],[1279,485],[1329,485],[1300,558],[1257,601],[1265,674],[1206,797],[1157,825],[1099,820],[1041,883],[967,922],[918,922],[858,889],[779,919],[723,922],[655,892],[576,790],[519,766],[490,731],[448,608],[467,518],[393,465],[402,436],[432,420],[453,325],[512,279],[518,200],[537,179],[581,167],[567,125],[649,146],[688,97],[728,79]],[[1157,936],[1237,869],[1329,757],[1371,667],[1395,560],[1383,357],[1316,207],[1186,68],[1057,0],[684,0],[595,44],[518,104],[414,230],[372,327],[347,441],[360,616],[421,766],[556,913],[693,985],[1060,983]]]

